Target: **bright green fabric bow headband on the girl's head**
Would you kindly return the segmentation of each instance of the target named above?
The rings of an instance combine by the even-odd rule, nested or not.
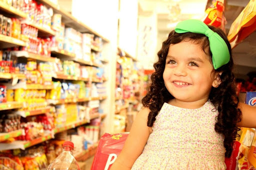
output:
[[[175,27],[175,32],[193,32],[204,34],[209,39],[210,51],[212,53],[212,64],[214,69],[228,63],[230,54],[225,41],[200,20],[188,19],[179,22]]]

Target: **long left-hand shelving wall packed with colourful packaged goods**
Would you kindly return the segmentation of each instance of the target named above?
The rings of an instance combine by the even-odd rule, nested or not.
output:
[[[77,159],[91,156],[106,99],[102,38],[66,27],[49,4],[4,0],[0,6],[6,8],[0,14],[0,169],[45,169],[67,130]]]

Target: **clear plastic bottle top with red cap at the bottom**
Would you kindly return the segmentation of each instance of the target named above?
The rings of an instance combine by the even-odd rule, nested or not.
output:
[[[62,153],[48,166],[47,170],[80,170],[73,157],[74,144],[65,141],[62,145]]]

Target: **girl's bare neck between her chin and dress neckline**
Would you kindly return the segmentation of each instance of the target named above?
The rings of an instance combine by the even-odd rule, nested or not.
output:
[[[185,109],[197,109],[202,107],[207,101],[207,98],[196,101],[181,101],[178,99],[172,99],[168,102],[168,104]]]

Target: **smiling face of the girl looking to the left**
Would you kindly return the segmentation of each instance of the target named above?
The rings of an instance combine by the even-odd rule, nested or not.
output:
[[[176,101],[206,102],[216,77],[213,70],[200,44],[181,41],[169,46],[163,80]]]

